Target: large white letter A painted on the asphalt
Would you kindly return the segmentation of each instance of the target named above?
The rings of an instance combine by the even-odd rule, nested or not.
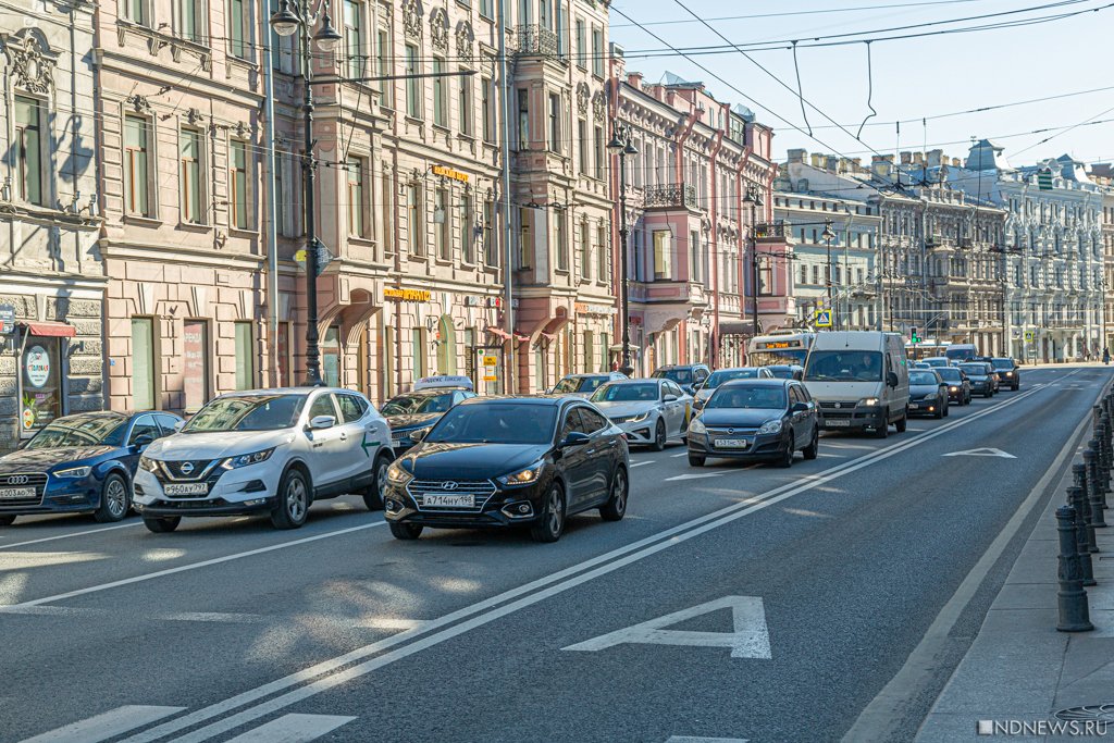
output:
[[[685,619],[711,612],[731,609],[733,632],[688,632],[665,629]],[[603,651],[623,644],[684,645],[691,647],[730,647],[733,658],[770,659],[770,630],[765,624],[765,607],[759,596],[724,596],[714,602],[666,614],[593,639],[569,645],[566,651]]]

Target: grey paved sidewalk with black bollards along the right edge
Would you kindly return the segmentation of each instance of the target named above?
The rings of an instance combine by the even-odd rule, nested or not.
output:
[[[919,743],[986,741],[989,734],[978,734],[979,721],[1006,725],[994,733],[1004,740],[1087,740],[1040,737],[1032,734],[1037,729],[1019,725],[1058,723],[1055,713],[1072,707],[1091,707],[1079,711],[1076,720],[1106,721],[1105,736],[1098,722],[1091,740],[1114,741],[1114,509],[1105,511],[1111,526],[1095,530],[1101,551],[1092,561],[1098,585],[1086,588],[1095,628],[1057,632],[1055,511],[1066,500],[1069,481],[1071,472],[1056,486],[975,642],[925,718]],[[1100,711],[1100,705],[1106,706]]]

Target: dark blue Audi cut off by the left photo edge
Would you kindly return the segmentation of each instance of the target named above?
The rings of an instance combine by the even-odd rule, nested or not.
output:
[[[131,508],[140,454],[180,422],[162,411],[56,418],[20,450],[0,457],[0,526],[32,514],[92,514],[102,524],[119,521]]]

